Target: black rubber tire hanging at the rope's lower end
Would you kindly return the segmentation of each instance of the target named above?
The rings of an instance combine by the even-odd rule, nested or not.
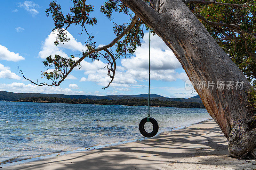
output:
[[[156,119],[149,117],[149,121],[153,124],[153,131],[150,133],[146,132],[145,128],[144,128],[144,125],[148,122],[147,117],[143,118],[139,124],[139,129],[140,129],[141,135],[143,135],[147,138],[151,138],[151,137],[155,136],[156,133],[158,132],[158,123],[157,123]]]

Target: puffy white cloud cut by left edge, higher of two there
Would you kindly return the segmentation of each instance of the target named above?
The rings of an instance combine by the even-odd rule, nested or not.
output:
[[[0,45],[0,60],[20,61],[25,60],[19,53],[10,52],[8,48]]]

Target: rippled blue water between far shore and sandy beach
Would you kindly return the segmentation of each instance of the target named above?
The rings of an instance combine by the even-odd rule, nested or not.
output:
[[[206,109],[150,109],[159,131],[211,118]],[[147,114],[143,106],[0,102],[0,162],[142,138]]]

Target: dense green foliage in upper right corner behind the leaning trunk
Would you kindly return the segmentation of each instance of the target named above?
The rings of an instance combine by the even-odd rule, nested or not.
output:
[[[192,12],[205,18],[198,17],[219,46],[247,79],[252,81],[256,78],[256,1],[218,0],[216,2],[243,4],[243,6],[192,3],[188,7]],[[209,24],[206,20],[227,25]]]

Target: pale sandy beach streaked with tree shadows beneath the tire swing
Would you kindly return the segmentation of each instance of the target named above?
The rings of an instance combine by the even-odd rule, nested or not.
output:
[[[3,169],[256,169],[255,160],[228,157],[227,145],[219,126],[211,120],[143,141],[60,154]]]

